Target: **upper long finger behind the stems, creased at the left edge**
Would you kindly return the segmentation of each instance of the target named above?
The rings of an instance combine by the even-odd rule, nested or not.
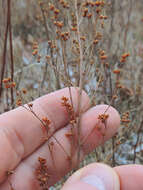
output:
[[[75,113],[78,107],[78,88],[70,88]],[[57,129],[68,124],[69,115],[61,98],[70,99],[69,89],[65,88],[33,102],[33,111],[41,117],[48,117],[52,122],[48,135],[52,135]],[[89,98],[82,93],[81,109],[84,112],[89,107]],[[47,135],[47,134],[46,134]],[[6,171],[14,167],[31,154],[44,142],[41,122],[23,107],[0,115],[0,182],[4,179]]]

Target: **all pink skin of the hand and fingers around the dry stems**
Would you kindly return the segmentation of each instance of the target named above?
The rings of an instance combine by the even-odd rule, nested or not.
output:
[[[71,87],[76,114],[78,114],[78,93],[78,88]],[[32,102],[32,109],[39,118],[45,116],[51,121],[48,132],[49,141],[53,141],[52,136],[54,135],[66,152],[70,153],[71,143],[65,136],[65,133],[69,132],[70,118],[66,108],[61,105],[63,96],[70,99],[69,88],[36,99]],[[120,116],[111,106],[107,111],[109,117],[106,130],[102,123],[98,126],[101,129],[104,128],[104,139],[103,134],[95,128],[99,114],[103,114],[107,108],[107,105],[90,108],[90,100],[87,94],[82,92],[81,139],[91,131],[93,132],[87,136],[82,145],[81,159],[117,132]],[[72,157],[72,166],[69,166],[67,156],[58,144],[54,145],[54,164],[45,137],[47,137],[47,133],[43,133],[41,122],[22,106],[0,115],[0,190],[9,190],[9,182],[14,190],[40,190],[35,177],[35,170],[39,164],[38,157],[47,160],[51,176],[49,177],[49,186],[76,166],[76,148],[73,147],[75,156]],[[14,173],[7,178],[8,171],[14,171]],[[142,178],[143,166],[141,165],[111,168],[102,163],[93,163],[75,172],[67,180],[62,190],[143,190]]]

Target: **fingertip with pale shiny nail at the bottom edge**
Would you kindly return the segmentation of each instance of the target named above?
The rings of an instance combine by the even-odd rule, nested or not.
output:
[[[93,163],[75,172],[62,190],[120,190],[119,177],[111,167]]]

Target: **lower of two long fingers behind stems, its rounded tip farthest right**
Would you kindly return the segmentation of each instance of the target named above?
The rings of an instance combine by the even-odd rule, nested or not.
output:
[[[107,105],[96,106],[83,114],[81,120],[81,141],[84,140],[84,142],[81,146],[81,159],[89,151],[92,151],[96,146],[103,143],[103,140],[109,139],[113,134],[116,133],[118,129],[120,124],[120,117],[117,111],[112,107],[110,107],[107,111],[109,117],[107,120],[106,129],[104,127],[104,124],[102,122],[99,122],[99,114],[104,113],[106,109]],[[101,128],[100,130],[99,127]],[[33,188],[38,189],[38,180],[36,179],[35,173],[39,167],[39,162],[37,161],[38,157],[46,158],[47,160],[47,172],[50,175],[47,181],[48,186],[53,185],[68,171],[75,167],[77,163],[77,144],[73,144],[73,142],[71,142],[71,140],[68,139],[65,135],[69,133],[69,128],[70,126],[68,125],[67,127],[58,130],[54,135],[56,137],[56,140],[62,145],[62,147],[64,147],[66,153],[57,143],[57,141],[51,137],[50,142],[54,143],[52,155],[48,149],[48,144],[50,142],[47,142],[29,158],[25,159],[22,164],[16,169],[14,175],[11,177],[15,189],[20,189],[21,183],[24,185],[24,188],[28,190],[32,190]],[[93,133],[87,136],[87,134],[90,134],[92,130]],[[105,132],[104,138],[102,130]],[[86,141],[84,137],[87,137]],[[77,142],[77,139],[74,139],[74,142]],[[69,156],[71,156],[71,161],[67,159]],[[26,172],[27,175],[24,177],[23,175]],[[21,175],[24,177],[24,181],[27,180],[26,185],[22,181],[23,177],[21,178]],[[4,187],[6,187],[6,184],[3,186],[3,189],[6,189]],[[23,189],[21,188],[20,190]]]

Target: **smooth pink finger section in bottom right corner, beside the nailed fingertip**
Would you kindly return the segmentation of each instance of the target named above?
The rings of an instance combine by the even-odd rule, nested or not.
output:
[[[114,168],[119,175],[122,190],[143,189],[143,166],[125,165]]]

